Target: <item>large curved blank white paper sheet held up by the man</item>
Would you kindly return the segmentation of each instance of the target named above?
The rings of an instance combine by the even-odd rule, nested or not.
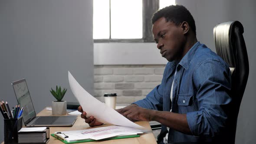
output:
[[[119,114],[114,109],[108,107],[98,99],[94,98],[88,92],[82,88],[81,85],[75,80],[75,78],[69,72],[69,85],[75,95],[75,98],[79,101],[83,110],[87,113],[87,117],[94,116],[97,121],[102,123],[120,125],[132,128],[144,128],[134,122],[128,120],[123,115]]]

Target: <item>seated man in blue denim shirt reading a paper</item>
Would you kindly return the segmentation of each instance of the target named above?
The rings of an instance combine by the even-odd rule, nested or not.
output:
[[[162,82],[146,98],[117,111],[131,121],[160,122],[158,143],[223,141],[231,101],[229,66],[197,41],[194,18],[184,6],[159,10],[152,23],[157,47],[169,61]],[[102,124],[86,118],[86,112],[81,117],[90,126]]]

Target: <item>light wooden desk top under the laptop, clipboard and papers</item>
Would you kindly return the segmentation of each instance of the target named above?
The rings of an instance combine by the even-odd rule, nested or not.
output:
[[[47,111],[44,109],[43,111],[39,112],[38,116],[43,115],[52,115],[52,111]],[[151,127],[148,121],[138,121],[136,124],[139,124],[149,130],[150,132],[141,134],[140,137],[133,137],[133,138],[124,138],[124,139],[117,139],[117,140],[108,140],[108,141],[94,141],[94,142],[86,142],[83,144],[93,144],[93,143],[100,143],[100,144],[157,144],[154,134],[151,131]],[[109,126],[106,124],[104,126]],[[87,123],[85,123],[84,119],[78,116],[75,124],[72,127],[50,127],[50,134],[53,134],[56,131],[72,131],[72,130],[82,130],[91,128]],[[57,140],[56,138],[50,136],[50,141],[48,144],[64,144],[61,141]],[[79,143],[82,144],[82,143]]]

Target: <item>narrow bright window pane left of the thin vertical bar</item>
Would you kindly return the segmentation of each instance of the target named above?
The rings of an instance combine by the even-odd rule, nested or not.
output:
[[[93,39],[109,39],[109,0],[93,0]]]

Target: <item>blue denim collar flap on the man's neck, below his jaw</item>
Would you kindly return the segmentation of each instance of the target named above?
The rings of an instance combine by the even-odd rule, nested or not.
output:
[[[186,53],[186,55],[181,59],[179,65],[183,66],[184,69],[188,69],[191,63],[191,60],[197,50],[197,48],[201,45],[200,42],[197,42],[190,48],[190,50]]]

